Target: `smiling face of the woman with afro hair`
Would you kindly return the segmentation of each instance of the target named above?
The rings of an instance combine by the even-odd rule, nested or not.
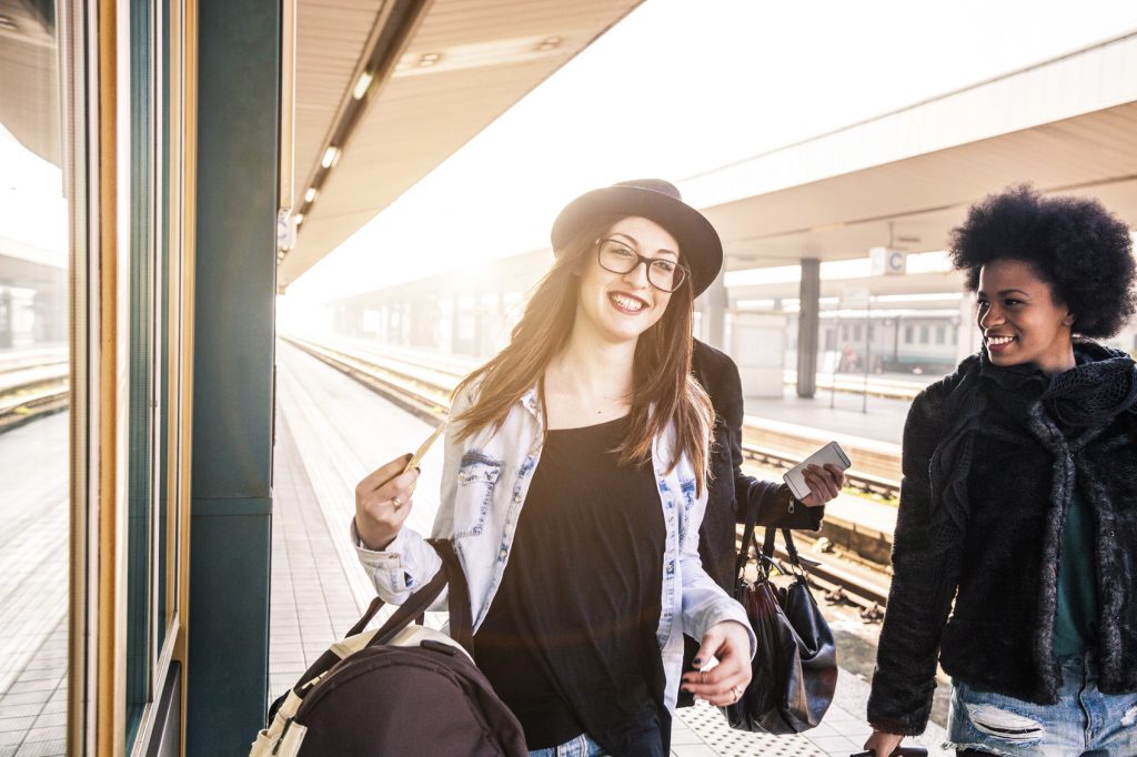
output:
[[[1034,364],[1046,373],[1074,366],[1073,315],[1023,260],[1002,259],[979,271],[977,319],[991,363]]]

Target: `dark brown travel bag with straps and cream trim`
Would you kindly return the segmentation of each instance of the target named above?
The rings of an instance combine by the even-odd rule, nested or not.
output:
[[[273,702],[268,727],[252,744],[250,757],[529,754],[517,718],[467,656],[473,633],[457,556],[447,541],[431,544],[442,557],[439,575],[415,592],[367,646],[342,659],[346,641],[324,652],[291,691]],[[447,583],[456,641],[417,626],[404,633]],[[381,606],[376,598],[348,637],[360,633]]]

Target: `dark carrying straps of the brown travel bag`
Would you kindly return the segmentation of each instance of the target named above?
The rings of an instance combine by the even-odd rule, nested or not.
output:
[[[442,567],[425,587],[407,598],[407,601],[375,632],[374,638],[367,642],[367,646],[372,647],[389,642],[402,629],[410,625],[416,617],[425,613],[434,600],[438,599],[439,594],[442,593],[447,584],[449,584],[450,593],[447,605],[450,613],[450,638],[473,655],[474,631],[473,618],[470,612],[470,589],[466,585],[466,575],[462,572],[462,564],[458,561],[458,556],[454,551],[454,544],[449,540],[429,539],[428,543],[434,548],[434,551],[442,559]],[[351,637],[362,632],[371,619],[375,617],[375,613],[381,607],[383,607],[383,600],[375,597],[371,601],[371,606],[367,607],[367,612],[359,618],[359,622],[348,631],[348,635]]]

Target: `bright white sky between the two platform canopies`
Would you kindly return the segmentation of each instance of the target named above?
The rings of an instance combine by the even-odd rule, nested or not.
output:
[[[1131,0],[647,0],[289,289],[548,244],[582,191],[682,178],[1137,28]],[[292,296],[296,296],[293,299]]]

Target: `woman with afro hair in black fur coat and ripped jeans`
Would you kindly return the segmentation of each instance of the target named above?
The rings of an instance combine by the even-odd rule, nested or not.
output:
[[[1092,341],[1134,314],[1129,230],[1016,186],[951,255],[982,347],[904,427],[865,748],[923,732],[938,657],[960,755],[1137,755],[1137,369]]]

